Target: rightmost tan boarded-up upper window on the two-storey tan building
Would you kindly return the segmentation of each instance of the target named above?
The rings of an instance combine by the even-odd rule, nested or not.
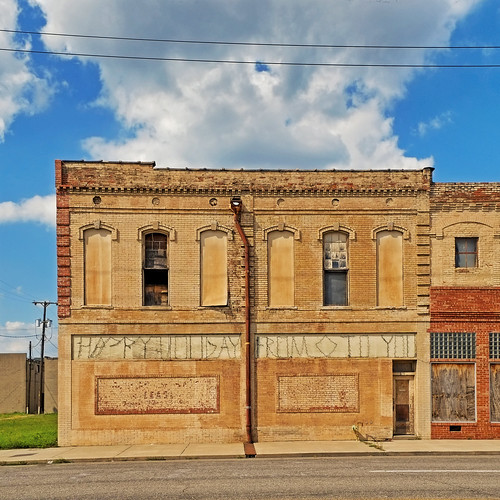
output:
[[[399,231],[377,233],[377,305],[403,305],[403,235]]]

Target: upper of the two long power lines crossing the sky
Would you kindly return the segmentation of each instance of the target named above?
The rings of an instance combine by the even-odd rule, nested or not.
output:
[[[173,38],[141,38],[130,36],[84,35],[77,33],[54,33],[49,31],[25,31],[0,29],[4,33],[23,35],[44,35],[68,38],[90,38],[96,40],[125,40],[133,42],[155,42],[196,45],[237,45],[244,47],[282,47],[315,49],[417,49],[417,50],[488,50],[500,49],[500,45],[372,45],[372,44],[323,44],[323,43],[279,43],[279,42],[235,42],[222,40],[181,40]]]

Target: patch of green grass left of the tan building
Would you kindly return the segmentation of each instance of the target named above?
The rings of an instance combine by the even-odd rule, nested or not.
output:
[[[0,449],[57,446],[57,413],[0,414]]]

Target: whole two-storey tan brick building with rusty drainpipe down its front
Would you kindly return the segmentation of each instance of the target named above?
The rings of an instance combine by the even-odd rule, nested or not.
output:
[[[60,445],[439,435],[432,169],[57,161],[56,185]]]

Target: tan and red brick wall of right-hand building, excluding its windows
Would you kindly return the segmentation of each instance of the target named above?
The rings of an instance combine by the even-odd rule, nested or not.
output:
[[[430,331],[476,333],[476,359],[470,361],[476,369],[477,413],[475,422],[433,422],[434,438],[500,437],[500,424],[490,423],[488,352],[489,333],[500,331],[499,211],[499,183],[432,186]],[[455,238],[459,237],[477,238],[477,267],[455,267]],[[459,431],[450,430],[454,424]]]

